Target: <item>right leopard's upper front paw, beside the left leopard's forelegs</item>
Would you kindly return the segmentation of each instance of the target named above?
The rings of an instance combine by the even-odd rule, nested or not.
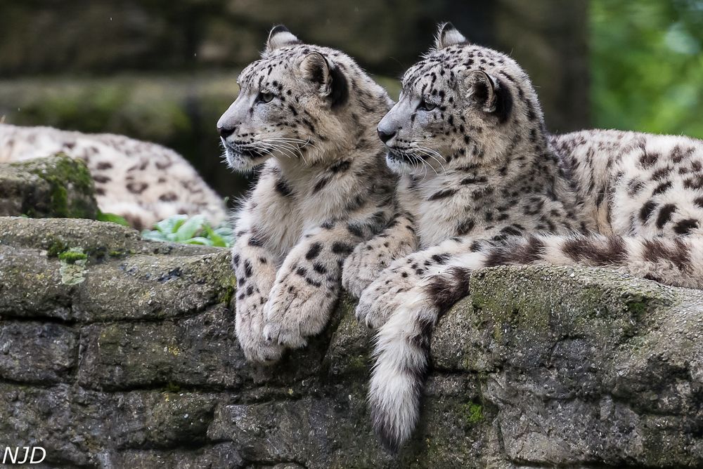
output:
[[[381,272],[393,260],[406,256],[412,247],[410,244],[390,244],[386,238],[371,239],[356,246],[354,251],[344,260],[342,269],[342,286],[359,298]]]

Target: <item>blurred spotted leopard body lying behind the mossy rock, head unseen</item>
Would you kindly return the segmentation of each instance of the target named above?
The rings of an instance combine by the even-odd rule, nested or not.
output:
[[[63,152],[82,159],[96,185],[98,207],[150,228],[178,213],[226,219],[224,202],[180,154],[155,143],[110,133],[0,124],[0,162]]]

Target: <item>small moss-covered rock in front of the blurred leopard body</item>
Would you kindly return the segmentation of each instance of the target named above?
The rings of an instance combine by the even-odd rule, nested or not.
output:
[[[95,218],[93,179],[65,154],[0,163],[0,216]]]

